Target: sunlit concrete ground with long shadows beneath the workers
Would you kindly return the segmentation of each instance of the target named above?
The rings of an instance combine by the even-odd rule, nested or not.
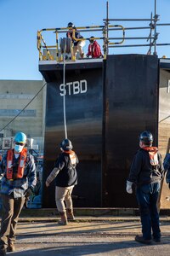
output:
[[[170,218],[161,218],[161,243],[142,245],[134,241],[141,234],[139,217],[77,217],[59,226],[59,218],[20,218],[16,256],[169,256]]]

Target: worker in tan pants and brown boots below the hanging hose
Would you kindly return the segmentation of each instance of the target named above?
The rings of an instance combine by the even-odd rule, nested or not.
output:
[[[55,201],[61,220],[59,224],[66,225],[67,219],[74,220],[71,193],[77,184],[77,154],[72,150],[72,143],[65,139],[60,143],[62,151],[54,164],[54,170],[46,180],[46,186],[55,178]],[[66,205],[66,209],[65,209]]]

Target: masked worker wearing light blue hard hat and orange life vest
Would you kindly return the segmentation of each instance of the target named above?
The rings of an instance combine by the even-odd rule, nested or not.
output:
[[[26,134],[17,132],[14,148],[8,149],[0,163],[3,215],[0,230],[0,255],[14,252],[15,232],[20,211],[34,189],[37,177],[34,158],[27,152]]]

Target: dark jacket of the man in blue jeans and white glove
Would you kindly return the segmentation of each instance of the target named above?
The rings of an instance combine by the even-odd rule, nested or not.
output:
[[[133,158],[128,181],[137,186],[148,183],[160,182],[164,168],[161,163],[161,154],[158,153],[158,165],[151,166],[148,151],[140,148]]]

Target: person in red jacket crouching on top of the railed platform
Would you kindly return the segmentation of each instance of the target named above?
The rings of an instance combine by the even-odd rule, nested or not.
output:
[[[90,37],[89,42],[90,44],[88,45],[88,54],[86,56],[91,56],[92,58],[103,58],[100,46],[94,37]]]

